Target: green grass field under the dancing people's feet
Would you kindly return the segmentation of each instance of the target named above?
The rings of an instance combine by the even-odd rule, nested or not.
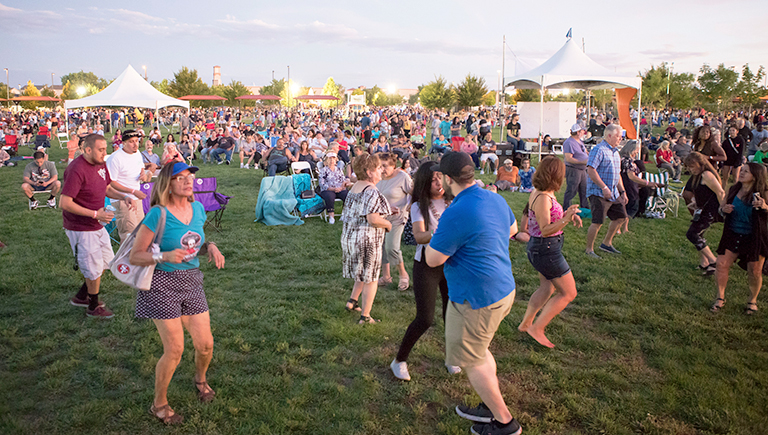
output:
[[[64,154],[54,145],[51,159]],[[169,392],[185,423],[163,427],[147,412],[162,347],[152,323],[133,317],[135,291],[106,274],[112,320],[69,305],[82,278],[61,212],[27,210],[22,170],[0,168],[8,245],[0,251],[0,433],[468,433],[453,408],[479,399],[465,375],[443,367],[440,316],[411,355],[413,380],[397,381],[388,365],[415,313],[413,294],[381,289],[373,314],[382,323],[358,326],[343,305],[352,282],[341,278],[340,223],[254,223],[261,171],[215,165],[199,176],[218,177],[234,196],[221,233],[207,233],[226,268],[202,266],[218,395],[197,402],[187,340]],[[527,195],[503,196],[519,217]],[[586,228],[569,227],[564,252],[579,296],[548,329],[554,350],[516,329],[538,277],[524,246],[510,247],[517,300],[492,351],[524,433],[768,433],[766,315],[741,314],[748,291],[739,269],[725,310],[708,311],[714,282],[695,270],[687,226],[682,209],[678,218],[637,219],[615,241],[623,255],[599,261],[583,255]],[[721,231],[710,229],[710,245]]]

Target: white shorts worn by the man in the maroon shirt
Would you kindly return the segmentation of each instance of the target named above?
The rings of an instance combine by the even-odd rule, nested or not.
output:
[[[77,259],[77,266],[85,279],[94,281],[109,269],[109,262],[115,257],[107,230],[70,231],[64,230]]]

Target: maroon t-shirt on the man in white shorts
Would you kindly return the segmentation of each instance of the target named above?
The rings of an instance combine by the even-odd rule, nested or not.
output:
[[[71,197],[75,204],[89,210],[104,207],[107,186],[112,182],[107,165],[92,165],[81,155],[67,166],[64,171],[64,187],[61,194]],[[70,231],[98,231],[102,228],[97,219],[79,216],[68,211],[62,212],[64,229]]]

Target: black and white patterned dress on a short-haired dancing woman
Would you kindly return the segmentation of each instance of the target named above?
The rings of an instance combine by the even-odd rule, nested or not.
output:
[[[368,186],[362,192],[349,193],[344,203],[341,221],[341,252],[344,278],[360,282],[379,279],[381,271],[381,246],[384,228],[374,228],[367,215],[390,215],[389,202],[375,187]]]

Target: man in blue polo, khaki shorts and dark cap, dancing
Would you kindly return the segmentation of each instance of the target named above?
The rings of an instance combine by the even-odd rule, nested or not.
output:
[[[456,412],[477,422],[472,433],[520,434],[499,389],[496,360],[488,350],[499,324],[515,299],[509,239],[517,222],[506,201],[474,183],[475,165],[466,153],[449,152],[440,161],[451,205],[426,250],[430,267],[445,264],[450,303],[445,318],[445,362],[467,373],[483,400]]]

